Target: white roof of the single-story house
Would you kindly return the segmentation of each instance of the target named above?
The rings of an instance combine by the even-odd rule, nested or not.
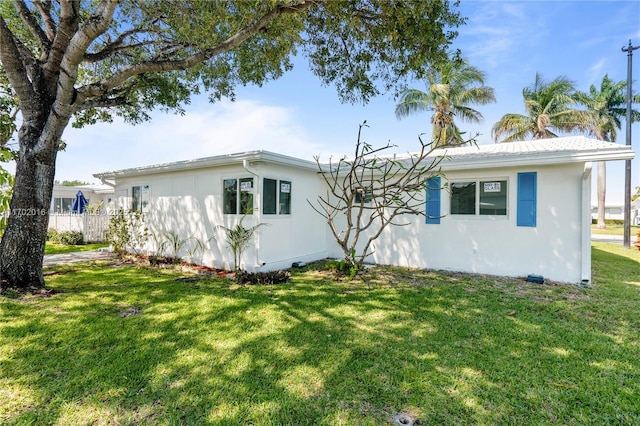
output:
[[[406,154],[404,157],[408,158],[410,155]],[[402,157],[396,156],[395,158],[401,160]],[[598,141],[584,136],[569,136],[491,145],[440,148],[431,152],[429,157],[441,159],[440,166],[444,170],[466,170],[630,160],[634,157],[634,152],[630,146],[626,145]],[[318,170],[318,164],[315,161],[259,150],[115,170],[96,173],[93,176],[104,181],[105,179],[115,179],[116,177],[201,169],[222,165],[247,165],[259,161],[307,170]]]

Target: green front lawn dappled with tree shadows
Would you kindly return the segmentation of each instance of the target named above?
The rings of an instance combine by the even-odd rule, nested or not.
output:
[[[640,252],[593,258],[589,289],[47,269],[51,294],[0,298],[0,423],[640,424]]]

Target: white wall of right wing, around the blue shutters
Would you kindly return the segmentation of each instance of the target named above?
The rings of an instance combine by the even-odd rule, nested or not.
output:
[[[590,200],[583,200],[583,170],[582,163],[574,163],[527,169],[445,171],[443,183],[507,180],[507,215],[451,215],[450,195],[442,190],[444,217],[440,224],[426,224],[424,217],[406,218],[405,222],[411,222],[409,225],[388,227],[383,232],[375,242],[375,253],[368,260],[491,275],[539,274],[572,283],[590,280],[590,261],[587,267],[583,265],[584,256],[589,259],[591,256],[590,249],[585,249],[581,232],[585,220],[583,206],[586,206],[587,218],[590,206]],[[518,172],[537,172],[536,227],[516,225]],[[590,176],[587,176],[586,184],[589,182]],[[587,191],[587,197],[589,193]],[[590,247],[590,242],[586,245]],[[331,256],[342,257],[335,243],[330,252]]]

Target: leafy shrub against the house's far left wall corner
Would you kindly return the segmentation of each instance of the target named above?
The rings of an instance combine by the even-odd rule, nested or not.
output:
[[[123,209],[109,220],[107,242],[113,251],[122,256],[131,250],[139,254],[139,250],[149,239],[149,228],[144,224],[144,214],[138,211],[125,213]]]

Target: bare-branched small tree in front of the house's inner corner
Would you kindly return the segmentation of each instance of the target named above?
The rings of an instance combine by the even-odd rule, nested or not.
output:
[[[324,217],[342,249],[344,261],[355,270],[374,253],[373,242],[397,219],[425,216],[426,181],[441,175],[442,156],[430,156],[438,143],[420,141],[420,151],[403,157],[383,156],[394,146],[375,148],[358,130],[353,159],[322,164],[315,157],[327,194],[311,206]],[[406,224],[406,223],[405,223]],[[359,247],[360,245],[360,247]]]

